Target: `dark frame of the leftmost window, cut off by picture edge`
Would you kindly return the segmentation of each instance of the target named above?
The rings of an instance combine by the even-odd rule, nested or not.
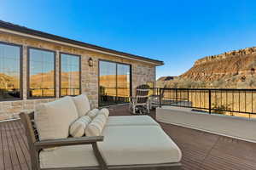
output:
[[[15,98],[15,99],[0,99],[1,101],[16,101],[16,100],[22,100],[23,99],[23,46],[20,44],[12,43],[12,42],[2,42],[0,41],[1,44],[4,45],[9,45],[9,46],[15,46],[20,48],[20,98]]]

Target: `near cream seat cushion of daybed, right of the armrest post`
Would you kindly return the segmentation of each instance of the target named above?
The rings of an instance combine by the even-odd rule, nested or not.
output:
[[[159,126],[109,126],[99,144],[108,165],[179,162],[181,151]]]

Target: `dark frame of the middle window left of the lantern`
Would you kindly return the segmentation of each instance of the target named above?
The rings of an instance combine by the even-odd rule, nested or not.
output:
[[[41,50],[41,51],[46,51],[46,52],[51,52],[54,54],[54,96],[41,96],[41,97],[33,97],[30,96],[30,53],[29,50],[30,49],[36,49],[36,50]],[[46,49],[46,48],[35,48],[35,47],[31,47],[28,46],[26,48],[26,99],[54,99],[56,98],[56,52],[54,50],[50,50],[50,49]]]

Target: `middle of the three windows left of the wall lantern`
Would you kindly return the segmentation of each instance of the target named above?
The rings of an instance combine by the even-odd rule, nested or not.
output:
[[[28,98],[55,97],[55,52],[28,48]]]

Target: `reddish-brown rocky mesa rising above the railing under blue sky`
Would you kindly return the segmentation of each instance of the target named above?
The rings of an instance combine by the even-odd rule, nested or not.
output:
[[[189,71],[157,83],[168,88],[256,88],[256,47],[207,56]]]

